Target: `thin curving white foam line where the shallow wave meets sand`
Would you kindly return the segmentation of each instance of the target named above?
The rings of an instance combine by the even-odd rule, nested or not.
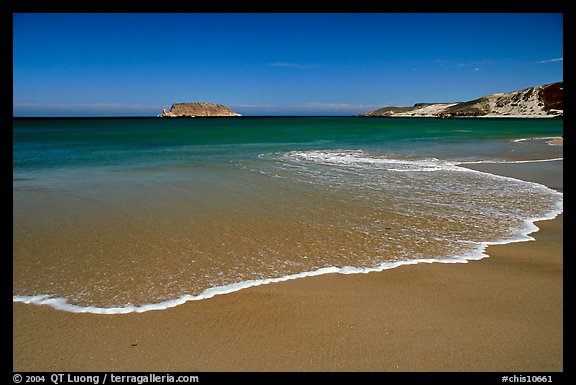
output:
[[[562,158],[560,158],[562,159]],[[546,161],[546,160],[540,160]],[[460,162],[458,164],[465,164],[466,162]],[[473,163],[473,162],[470,162]],[[478,162],[474,162],[478,163]],[[490,162],[490,163],[500,163],[500,162]],[[534,187],[542,188],[548,190],[549,192],[554,192],[558,196],[564,196],[562,192],[556,191],[551,189],[545,185],[536,182],[529,182],[524,181],[516,178],[511,178],[507,176],[487,173],[483,171],[473,170],[465,167],[454,167],[459,168],[461,171],[468,171],[472,173],[480,173],[492,178],[497,179],[509,179],[514,180],[516,182],[523,182],[529,185],[533,185]],[[34,304],[34,305],[48,305],[56,310],[63,310],[71,313],[90,313],[90,314],[129,314],[129,313],[144,313],[147,311],[152,310],[166,310],[176,306],[180,306],[185,304],[189,301],[199,301],[203,299],[209,299],[215,297],[217,295],[223,294],[230,294],[233,292],[240,291],[242,289],[248,289],[255,286],[261,285],[268,285],[271,283],[278,283],[278,282],[285,282],[299,278],[306,278],[306,277],[315,277],[325,274],[367,274],[372,272],[381,272],[384,270],[394,269],[400,266],[406,265],[417,265],[420,263],[468,263],[468,261],[476,261],[486,257],[489,257],[488,254],[485,253],[485,250],[488,246],[492,245],[502,245],[508,243],[515,243],[515,242],[525,242],[525,241],[533,241],[534,238],[530,236],[530,234],[539,230],[538,226],[536,226],[535,222],[544,221],[544,220],[551,220],[556,218],[559,214],[563,212],[563,199],[559,199],[556,202],[556,209],[550,210],[548,213],[544,214],[542,217],[534,217],[528,218],[524,220],[524,229],[518,231],[518,235],[513,238],[508,239],[501,239],[497,241],[483,241],[478,242],[478,246],[474,251],[471,251],[468,254],[462,256],[455,256],[452,258],[420,258],[420,259],[412,259],[406,261],[393,261],[393,262],[384,262],[374,267],[354,267],[354,266],[343,266],[343,267],[324,267],[317,270],[306,271],[302,273],[290,274],[282,277],[277,278],[265,278],[265,279],[256,279],[256,280],[247,280],[238,283],[231,283],[228,285],[222,286],[215,286],[204,290],[202,293],[198,295],[191,295],[185,294],[179,298],[174,300],[153,303],[153,304],[145,304],[140,306],[135,306],[132,304],[127,304],[123,307],[97,307],[97,306],[79,306],[74,304],[69,304],[66,298],[61,297],[51,297],[48,294],[44,295],[34,295],[34,296],[21,296],[21,295],[14,295],[12,296],[12,302],[20,302],[24,304]]]

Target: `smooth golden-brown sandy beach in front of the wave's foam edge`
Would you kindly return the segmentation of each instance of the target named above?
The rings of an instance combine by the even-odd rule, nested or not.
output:
[[[553,163],[474,168],[561,190]],[[13,370],[562,371],[563,216],[536,224],[535,242],[479,261],[298,279],[163,311],[14,303]]]

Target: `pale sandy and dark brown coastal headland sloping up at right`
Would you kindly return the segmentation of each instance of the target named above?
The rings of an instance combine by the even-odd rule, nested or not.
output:
[[[365,117],[415,116],[451,118],[556,117],[564,113],[563,82],[525,88],[519,91],[483,96],[468,102],[418,103],[412,107],[384,107],[361,114]]]

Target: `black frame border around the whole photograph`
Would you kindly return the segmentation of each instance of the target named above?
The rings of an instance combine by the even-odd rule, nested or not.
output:
[[[201,3],[201,4],[199,4]],[[70,12],[81,12],[81,13],[92,13],[92,12],[158,12],[158,13],[169,13],[169,12],[206,12],[206,13],[243,13],[243,12],[256,12],[256,13],[264,13],[264,12],[327,12],[327,13],[340,13],[340,12],[350,12],[350,13],[373,13],[373,12],[422,12],[422,13],[438,13],[438,12],[510,12],[510,13],[526,13],[526,12],[542,12],[542,13],[563,13],[564,14],[564,41],[565,41],[565,56],[566,56],[566,63],[564,68],[570,69],[567,73],[565,73],[564,84],[565,84],[565,98],[568,100],[568,105],[574,106],[574,103],[570,103],[573,101],[573,81],[571,78],[570,72],[572,71],[571,68],[574,67],[574,60],[573,60],[573,52],[574,52],[574,39],[573,37],[576,36],[573,31],[573,17],[572,13],[569,12],[568,5],[571,5],[570,2],[567,1],[540,1],[540,2],[517,2],[516,4],[508,3],[504,4],[503,2],[495,2],[495,1],[479,1],[476,4],[470,3],[459,3],[454,5],[452,2],[425,2],[420,3],[419,1],[405,1],[405,2],[379,2],[376,4],[375,2],[363,2],[363,3],[354,3],[353,9],[350,9],[351,6],[349,3],[337,3],[331,2],[330,6],[327,7],[327,4],[324,2],[320,2],[317,4],[298,4],[290,2],[290,4],[267,4],[267,3],[246,3],[246,2],[227,2],[227,3],[219,3],[219,2],[197,2],[197,1],[168,1],[168,2],[139,2],[130,4],[129,2],[121,2],[121,1],[110,1],[110,0],[100,0],[100,1],[89,1],[89,2],[69,2],[65,1],[62,2],[61,0],[24,0],[24,1],[17,1],[17,0],[4,0],[0,1],[0,28],[2,30],[2,40],[5,40],[2,44],[4,48],[4,52],[10,51],[13,52],[13,41],[12,41],[12,28],[13,28],[13,13],[70,13]],[[473,8],[471,8],[473,7]],[[527,26],[529,28],[530,26]],[[569,32],[567,32],[567,30]],[[10,119],[11,114],[8,113],[12,109],[12,101],[13,101],[13,94],[10,93],[9,87],[7,84],[9,79],[12,79],[12,71],[13,71],[13,64],[9,66],[3,66],[5,71],[7,71],[2,76],[2,92],[5,94],[2,97],[2,106],[6,108],[2,108],[2,117],[5,120],[5,125],[2,128],[2,143],[5,147],[2,153],[2,164],[6,165],[6,169],[8,170],[8,165],[12,165],[12,147],[8,147],[12,141],[12,130],[8,129],[11,127],[12,120]],[[568,76],[566,76],[568,75]],[[572,163],[572,155],[570,151],[570,146],[573,143],[573,116],[574,113],[567,109],[566,114],[564,115],[564,119],[566,119],[567,130],[565,130],[565,145],[569,146],[568,150],[565,152],[565,160],[568,161],[568,165]],[[4,159],[5,157],[5,159]],[[8,173],[8,172],[7,172]],[[6,181],[8,181],[8,177],[6,177]],[[564,192],[568,192],[572,190],[569,185],[566,185]],[[5,189],[6,192],[8,190],[8,186]],[[6,200],[8,197],[6,197]],[[572,215],[570,215],[570,211],[572,204],[568,201],[565,203],[565,219],[570,219]],[[5,242],[4,244],[6,244]],[[564,246],[567,246],[566,244]],[[4,254],[6,255],[6,254]],[[464,372],[464,373],[454,373],[454,372],[393,372],[393,373],[189,373],[190,375],[198,375],[200,378],[201,383],[221,383],[223,381],[262,381],[262,382],[270,382],[278,379],[282,380],[299,380],[302,377],[309,378],[311,380],[322,380],[322,381],[361,381],[361,380],[384,380],[389,381],[389,383],[442,383],[442,384],[501,384],[502,376],[528,376],[528,375],[536,375],[536,376],[548,376],[551,375],[553,378],[554,384],[563,384],[567,383],[568,379],[573,382],[573,375],[574,375],[574,368],[571,366],[571,362],[573,359],[572,356],[572,349],[569,341],[573,340],[574,332],[573,332],[573,325],[574,325],[574,317],[570,316],[570,305],[573,299],[572,293],[574,293],[574,288],[572,287],[572,279],[570,277],[570,273],[573,272],[574,263],[571,261],[571,257],[574,256],[573,253],[570,251],[565,253],[565,256],[568,256],[564,259],[565,261],[565,271],[568,274],[565,275],[564,280],[564,372],[552,372],[552,373],[532,373],[532,372]],[[5,257],[6,258],[6,257]],[[6,269],[8,270],[8,269]],[[3,284],[3,293],[6,293],[5,299],[6,304],[9,305],[12,303],[11,292],[12,292],[12,285],[11,279],[4,280]],[[12,319],[13,322],[13,319]],[[7,344],[5,344],[6,346]],[[12,369],[12,363],[8,362],[7,360],[4,361],[4,365],[6,370],[2,370],[3,373],[6,373],[1,376],[1,378],[9,379],[7,383],[16,383],[14,382],[14,374]],[[67,373],[67,372],[57,372],[57,373]],[[83,372],[74,372],[74,374],[82,374]],[[22,373],[24,375],[24,373]],[[49,376],[52,372],[32,372],[27,373],[28,375],[43,375],[47,376],[45,383],[49,381]],[[85,372],[86,375],[94,375],[96,373],[88,373]],[[148,373],[134,373],[134,372],[126,372],[123,374],[133,374],[133,375],[146,375]],[[175,376],[182,375],[185,373],[171,373],[171,372],[162,372],[157,373],[158,375],[165,375],[165,374],[173,374]],[[101,375],[101,374],[99,374]],[[282,376],[282,377],[280,377]],[[520,382],[520,381],[518,381]],[[64,382],[65,383],[65,382]],[[100,382],[102,383],[102,382]],[[524,382],[528,383],[528,382]]]

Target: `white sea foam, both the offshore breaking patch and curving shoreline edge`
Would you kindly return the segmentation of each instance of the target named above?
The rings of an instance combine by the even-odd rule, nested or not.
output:
[[[165,310],[182,305],[189,301],[199,301],[209,299],[217,295],[229,294],[251,287],[267,285],[271,283],[285,282],[306,277],[321,276],[325,274],[344,274],[344,275],[367,274],[372,272],[381,272],[384,270],[394,269],[402,266],[417,265],[421,263],[467,263],[468,261],[480,260],[482,258],[487,257],[488,255],[485,253],[485,250],[490,245],[533,240],[534,238],[531,237],[530,234],[538,230],[538,227],[535,225],[535,222],[553,219],[563,211],[563,194],[561,192],[552,190],[538,183],[519,181],[517,179],[510,177],[489,174],[482,171],[471,170],[459,166],[459,164],[481,163],[481,162],[449,162],[438,160],[435,158],[421,159],[421,160],[402,160],[402,159],[370,156],[360,150],[292,151],[285,154],[281,154],[280,158],[284,161],[312,162],[323,165],[345,165],[346,167],[360,167],[360,168],[386,167],[388,171],[393,172],[452,171],[463,173],[476,173],[476,174],[482,174],[489,178],[510,180],[517,183],[521,182],[525,187],[538,189],[547,194],[555,195],[557,197],[557,202],[556,207],[549,210],[544,215],[525,219],[522,229],[518,230],[518,232],[514,236],[499,239],[496,241],[472,242],[475,245],[475,247],[471,252],[468,252],[464,255],[454,256],[451,258],[418,258],[412,260],[387,261],[379,263],[373,267],[355,267],[355,266],[323,267],[312,271],[289,274],[275,278],[245,280],[241,282],[210,287],[205,289],[198,295],[185,294],[176,299],[158,303],[144,304],[140,306],[132,304],[126,304],[122,307],[79,306],[68,303],[68,300],[66,298],[52,297],[50,295],[33,295],[33,296],[14,295],[13,302],[19,302],[24,304],[35,304],[35,305],[48,305],[54,309],[72,313],[91,313],[91,314],[142,313],[154,310]],[[522,163],[522,162],[535,162],[535,161],[515,161],[510,163]]]

